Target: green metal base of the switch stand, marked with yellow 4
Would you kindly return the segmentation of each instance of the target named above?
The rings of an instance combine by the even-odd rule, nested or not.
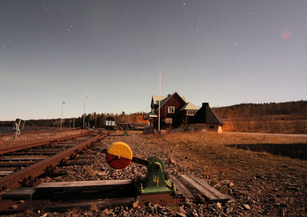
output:
[[[164,172],[164,163],[157,156],[151,156],[145,180],[137,188],[138,195],[166,194],[176,191],[173,182],[170,182],[168,175]]]

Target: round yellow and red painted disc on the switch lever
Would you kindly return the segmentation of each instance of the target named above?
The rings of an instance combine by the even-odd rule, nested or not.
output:
[[[124,169],[132,160],[132,151],[124,142],[114,142],[107,149],[107,163],[113,169]]]

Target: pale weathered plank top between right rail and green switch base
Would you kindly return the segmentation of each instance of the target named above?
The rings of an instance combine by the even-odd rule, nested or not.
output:
[[[68,182],[43,182],[38,184],[35,188],[72,188],[80,187],[84,188],[87,186],[99,187],[99,186],[116,186],[131,184],[130,179],[119,179],[119,180],[95,180],[95,181],[68,181]]]

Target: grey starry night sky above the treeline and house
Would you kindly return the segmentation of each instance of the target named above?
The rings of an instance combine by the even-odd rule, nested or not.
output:
[[[0,120],[306,100],[307,1],[0,1]]]

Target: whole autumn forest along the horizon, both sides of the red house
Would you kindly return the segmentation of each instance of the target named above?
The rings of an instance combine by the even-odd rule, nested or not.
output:
[[[212,107],[225,125],[223,131],[267,132],[267,133],[307,133],[307,100],[284,103],[241,103],[227,107]],[[107,117],[116,123],[145,124],[145,112],[126,114],[96,113],[85,115],[85,126],[100,128]],[[83,126],[84,116],[75,118],[75,127]],[[0,126],[13,126],[15,121],[0,121]],[[60,127],[61,119],[25,120],[28,127]],[[63,118],[62,127],[73,127],[73,118]]]

